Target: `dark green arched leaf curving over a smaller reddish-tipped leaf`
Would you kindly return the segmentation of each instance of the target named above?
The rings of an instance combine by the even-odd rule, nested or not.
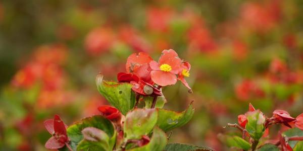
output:
[[[76,150],[78,143],[83,139],[82,130],[86,127],[95,127],[103,130],[109,136],[110,148],[113,148],[116,141],[116,131],[111,121],[101,115],[94,115],[81,119],[81,121],[67,128],[67,135],[71,140],[71,147]]]

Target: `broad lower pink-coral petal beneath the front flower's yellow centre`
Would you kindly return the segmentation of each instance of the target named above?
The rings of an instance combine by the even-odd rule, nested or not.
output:
[[[159,86],[174,85],[177,82],[177,77],[174,73],[165,71],[151,71],[151,80]]]

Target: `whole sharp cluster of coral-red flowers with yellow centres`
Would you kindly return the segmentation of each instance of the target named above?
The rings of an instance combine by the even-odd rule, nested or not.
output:
[[[180,80],[190,91],[185,77],[189,77],[190,64],[172,50],[163,50],[159,61],[144,52],[131,54],[126,61],[126,72],[117,75],[119,82],[133,85],[139,95],[162,96],[162,87],[176,84]]]

